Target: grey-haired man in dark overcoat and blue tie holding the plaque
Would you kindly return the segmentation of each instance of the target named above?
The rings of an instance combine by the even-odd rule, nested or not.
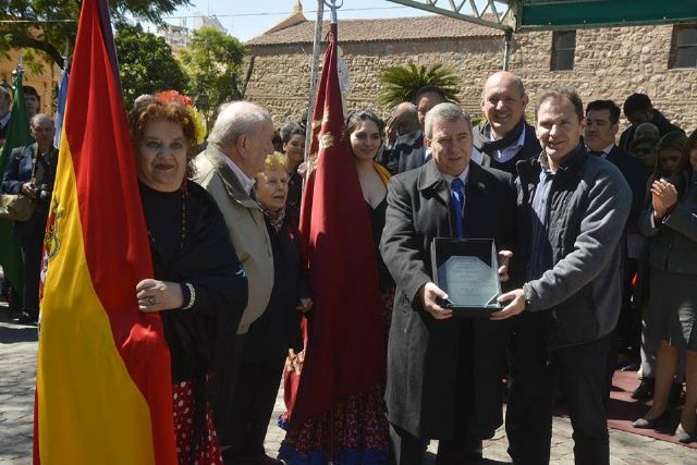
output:
[[[381,253],[396,281],[386,401],[398,465],[420,464],[430,439],[439,464],[478,463],[502,423],[504,326],[454,317],[432,281],[435,237],[492,237],[502,281],[515,233],[510,174],[470,161],[472,123],[454,103],[426,115],[432,159],[392,178]],[[463,208],[464,206],[464,208]],[[475,381],[476,380],[476,381]]]

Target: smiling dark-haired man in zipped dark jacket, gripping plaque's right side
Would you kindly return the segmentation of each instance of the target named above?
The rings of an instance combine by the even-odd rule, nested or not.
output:
[[[584,108],[568,89],[542,93],[538,158],[517,164],[518,230],[526,282],[492,314],[517,321],[506,411],[515,464],[549,463],[557,378],[574,428],[577,464],[609,465],[606,360],[621,302],[620,241],[632,192],[580,143]]]

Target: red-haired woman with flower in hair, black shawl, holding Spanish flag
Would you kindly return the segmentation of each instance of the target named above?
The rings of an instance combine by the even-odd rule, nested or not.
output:
[[[221,464],[209,384],[230,391],[222,368],[247,302],[247,282],[216,203],[187,179],[203,138],[187,103],[163,93],[131,114],[155,270],[134,292],[140,310],[160,311],[162,318],[179,463]]]

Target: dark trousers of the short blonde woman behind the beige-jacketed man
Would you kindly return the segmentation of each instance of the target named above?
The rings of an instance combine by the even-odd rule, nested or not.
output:
[[[273,413],[283,374],[284,356],[265,362],[243,363],[232,401],[232,457],[257,457],[266,453],[264,439]]]

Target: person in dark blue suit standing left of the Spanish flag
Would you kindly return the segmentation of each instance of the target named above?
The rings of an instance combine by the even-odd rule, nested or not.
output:
[[[34,215],[26,221],[14,223],[24,266],[21,323],[34,323],[39,315],[41,247],[58,166],[58,150],[53,147],[56,127],[51,117],[34,115],[30,132],[36,143],[12,150],[2,178],[3,193],[24,194],[37,199]]]

